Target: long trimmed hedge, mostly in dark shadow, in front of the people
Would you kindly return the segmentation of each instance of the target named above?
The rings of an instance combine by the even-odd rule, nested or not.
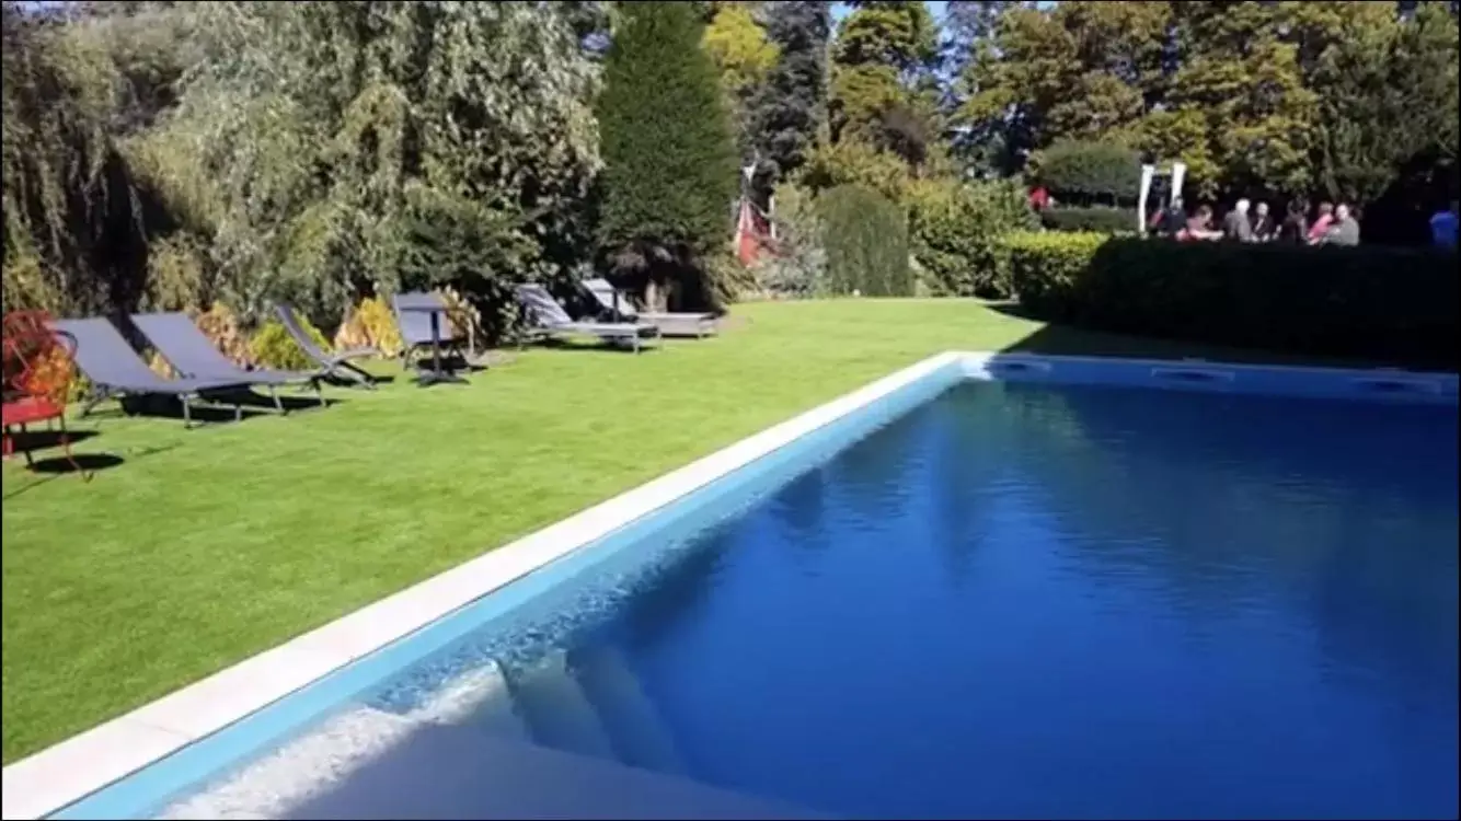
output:
[[[1031,313],[1096,330],[1457,370],[1455,251],[1021,234]]]

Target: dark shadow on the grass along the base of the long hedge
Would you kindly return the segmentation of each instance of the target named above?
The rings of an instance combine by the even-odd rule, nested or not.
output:
[[[1030,321],[1046,321],[1015,302],[986,302],[992,311]],[[1040,330],[1004,348],[1007,354],[1048,354],[1065,356],[1115,356],[1144,359],[1213,359],[1254,365],[1328,365],[1341,368],[1373,368],[1391,362],[1335,356],[1278,354],[1252,348],[1233,348],[1176,339],[1126,336],[1102,330],[1087,330],[1064,324],[1046,324]]]

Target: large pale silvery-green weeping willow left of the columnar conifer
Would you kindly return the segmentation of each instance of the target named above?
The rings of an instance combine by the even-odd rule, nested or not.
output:
[[[443,280],[497,302],[587,259],[596,69],[554,4],[190,13],[202,58],[133,152],[245,314]]]

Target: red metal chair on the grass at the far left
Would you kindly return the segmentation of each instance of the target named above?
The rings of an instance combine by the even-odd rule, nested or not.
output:
[[[45,326],[47,318],[42,311],[16,311],[4,317],[0,450],[10,456],[15,447],[12,428],[25,429],[26,425],[54,419],[60,425],[66,460],[83,479],[91,479],[91,473],[76,462],[66,432],[66,399],[76,373],[76,342],[66,335],[53,333]],[[32,467],[35,465],[29,450],[25,451],[25,463]]]

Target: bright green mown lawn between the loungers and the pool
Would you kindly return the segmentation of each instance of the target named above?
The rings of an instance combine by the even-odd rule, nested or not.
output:
[[[3,469],[4,761],[955,348],[1252,358],[969,301],[779,302],[720,339],[530,349],[286,418],[184,431],[104,406],[73,424],[120,459],[91,484]]]

